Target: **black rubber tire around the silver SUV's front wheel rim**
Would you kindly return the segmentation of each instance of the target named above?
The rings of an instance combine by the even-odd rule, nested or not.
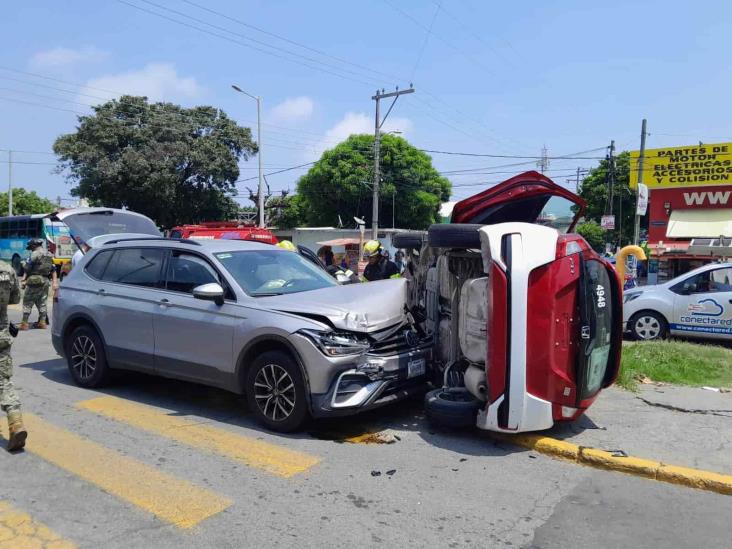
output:
[[[277,365],[286,371],[295,386],[295,406],[292,413],[282,420],[273,420],[265,415],[255,398],[255,380],[260,370],[268,365]],[[302,371],[297,362],[290,354],[283,351],[267,351],[254,359],[246,373],[244,382],[244,392],[246,393],[249,409],[252,411],[257,421],[267,429],[280,433],[291,433],[300,429],[310,417],[308,405],[307,388],[303,379]]]

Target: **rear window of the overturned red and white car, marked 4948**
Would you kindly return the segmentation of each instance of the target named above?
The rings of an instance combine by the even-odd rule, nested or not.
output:
[[[596,260],[582,262],[580,316],[582,348],[577,371],[579,400],[589,398],[603,385],[613,358],[613,295],[607,268]]]

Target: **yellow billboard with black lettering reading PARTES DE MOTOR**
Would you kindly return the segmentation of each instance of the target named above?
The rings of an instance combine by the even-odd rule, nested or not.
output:
[[[630,152],[630,185],[638,183],[640,151]],[[643,183],[651,189],[732,184],[732,143],[646,149]]]

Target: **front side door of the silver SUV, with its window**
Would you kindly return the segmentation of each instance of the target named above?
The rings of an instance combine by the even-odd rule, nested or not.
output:
[[[172,250],[165,288],[155,307],[155,370],[180,379],[227,386],[234,375],[234,295],[223,305],[193,297],[193,288],[225,281],[202,255]]]

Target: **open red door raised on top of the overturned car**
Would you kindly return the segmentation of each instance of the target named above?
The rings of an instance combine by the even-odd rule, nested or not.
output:
[[[519,221],[568,233],[586,206],[573,192],[539,172],[529,171],[461,200],[452,210],[451,222],[493,225]]]

